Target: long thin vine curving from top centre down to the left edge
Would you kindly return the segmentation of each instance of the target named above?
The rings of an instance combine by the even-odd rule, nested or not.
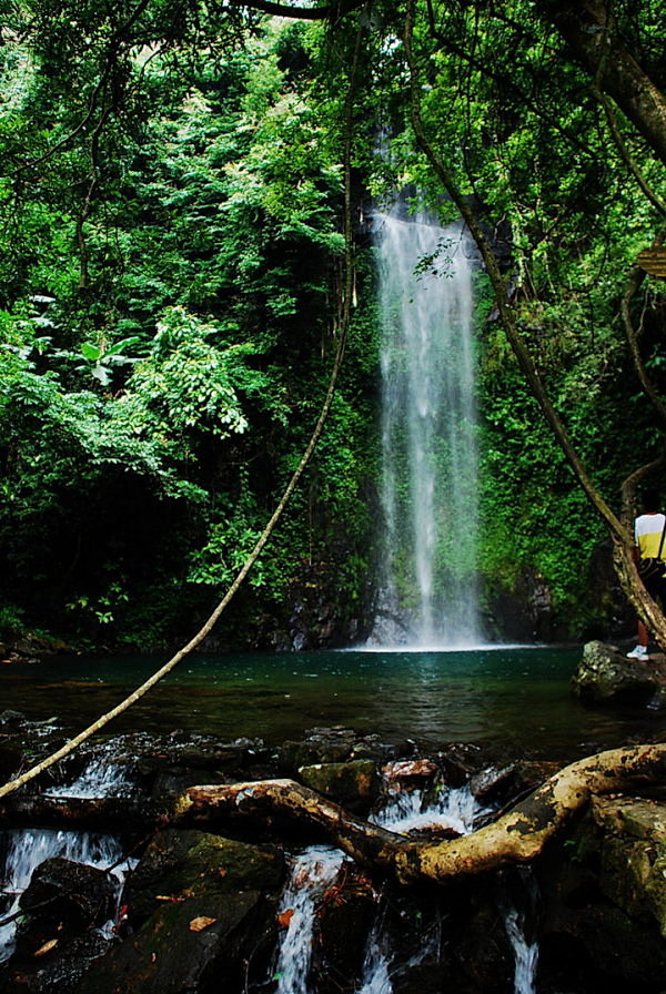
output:
[[[361,29],[359,29],[356,36],[356,48],[354,52],[354,59],[352,63],[352,71],[350,75],[350,88],[346,98],[345,104],[345,118],[344,118],[344,150],[343,150],[343,171],[344,171],[344,216],[343,216],[343,227],[344,227],[344,242],[345,242],[345,252],[344,252],[344,281],[343,281],[343,310],[342,316],[340,321],[340,337],[337,342],[337,349],[335,353],[335,358],[333,361],[333,366],[331,368],[331,376],[329,379],[329,387],[326,390],[326,396],[324,398],[324,403],[322,405],[322,409],[320,412],[320,416],[314,426],[312,435],[310,437],[310,442],[301,457],[301,462],[299,463],[296,469],[294,470],[289,484],[286,485],[284,493],[273,511],[273,515],[269,523],[266,524],[264,530],[262,531],[260,538],[258,539],[254,548],[250,552],[248,559],[243,564],[242,568],[238,572],[235,579],[229,587],[226,594],[222,598],[222,600],[214,608],[212,613],[209,616],[208,620],[204,625],[199,629],[196,635],[190,639],[190,641],[183,646],[179,651],[171,657],[171,659],[164,663],[159,670],[157,670],[144,683],[137,688],[129,697],[127,697],[123,701],[112,708],[111,711],[108,711],[105,714],[102,714],[93,724],[89,726],[82,732],[79,732],[73,739],[68,740],[61,749],[57,752],[51,753],[44,760],[37,763],[34,767],[31,767],[24,773],[21,773],[19,777],[9,780],[2,787],[0,787],[0,798],[7,797],[7,794],[12,793],[18,790],[20,787],[23,787],[30,780],[33,780],[36,777],[39,777],[40,773],[43,773],[44,770],[48,770],[50,767],[54,765],[57,762],[60,762],[61,759],[64,759],[65,755],[69,755],[73,752],[79,746],[90,739],[95,732],[99,732],[104,726],[109,724],[114,718],[118,718],[119,714],[122,714],[127,711],[132,704],[134,704],[138,700],[140,700],[149,690],[160,682],[168,673],[173,670],[178,663],[189,656],[193,649],[195,649],[203,639],[209,635],[209,632],[213,629],[220,616],[228,607],[229,602],[232,600],[234,595],[238,592],[239,588],[245,580],[245,577],[259,559],[261,552],[263,551],[264,546],[269,541],[278,521],[282,517],[284,509],[286,508],[292,494],[294,493],[311,457],[315,449],[315,446],[321,437],[321,434],[324,428],[324,424],[331,410],[331,405],[333,403],[333,396],[335,393],[335,386],[337,383],[337,376],[340,373],[340,368],[342,366],[342,359],[344,356],[344,349],[346,345],[347,332],[351,320],[351,302],[352,302],[352,291],[353,291],[353,235],[352,235],[352,199],[351,199],[351,150],[352,150],[352,115],[353,115],[353,105],[354,105],[354,93],[355,93],[355,78],[356,78],[356,68],[359,62],[359,52],[360,52],[360,39],[361,39]]]

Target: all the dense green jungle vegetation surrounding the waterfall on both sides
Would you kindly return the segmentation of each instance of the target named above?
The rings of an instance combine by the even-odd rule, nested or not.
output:
[[[660,244],[666,113],[642,126],[650,115],[623,101],[632,87],[615,70],[629,53],[658,103],[662,0],[379,0],[322,8],[326,18],[263,0],[0,10],[4,633],[170,645],[243,562],[310,437],[340,334],[349,99],[344,367],[221,643],[287,645],[297,610],[313,645],[332,617],[340,639],[372,618],[369,212],[407,187],[443,223],[458,216],[418,128],[486,233],[536,373],[619,515],[620,485],[663,449],[664,282],[635,265]],[[592,68],[581,38],[601,44]],[[607,629],[620,604],[610,542],[516,362],[486,270],[488,613],[500,632],[501,597],[527,600],[543,576],[561,633]]]

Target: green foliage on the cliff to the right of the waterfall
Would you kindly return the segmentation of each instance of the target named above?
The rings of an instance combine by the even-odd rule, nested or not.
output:
[[[630,14],[619,7],[623,37],[636,51],[654,51],[656,7]],[[630,266],[662,223],[627,170],[626,153],[662,197],[663,163],[620,114],[619,154],[589,75],[534,14],[528,0],[501,13],[477,3],[418,7],[420,111],[435,153],[493,240],[509,306],[547,394],[619,513],[622,481],[658,454],[663,436],[639,395],[619,314]],[[387,45],[385,59],[394,67],[387,92],[395,93],[404,79],[402,47]],[[652,70],[663,79],[657,62]],[[393,106],[397,135],[376,163],[375,189],[385,186],[387,173],[391,182],[414,183],[451,220],[437,176],[415,151],[408,108],[397,99]],[[581,632],[591,610],[598,611],[591,576],[603,529],[526,390],[483,274],[477,296],[487,588],[491,596],[516,590],[541,572],[559,619]],[[636,327],[649,328],[640,347],[660,389],[663,308],[663,293],[649,282],[632,304]],[[607,549],[605,556],[608,561]]]

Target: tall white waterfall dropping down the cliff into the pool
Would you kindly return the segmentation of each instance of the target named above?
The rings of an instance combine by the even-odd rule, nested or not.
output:
[[[382,325],[379,617],[415,646],[480,641],[477,457],[468,236],[375,215]],[[377,623],[373,641],[384,641]],[[398,639],[390,636],[394,641]],[[404,641],[404,637],[402,639]]]

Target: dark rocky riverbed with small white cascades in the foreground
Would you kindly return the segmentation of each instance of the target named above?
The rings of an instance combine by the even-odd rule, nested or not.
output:
[[[61,740],[54,723],[0,716],[3,775]],[[658,790],[595,799],[529,868],[447,886],[401,886],[327,848],[322,854],[321,832],[284,819],[230,831],[176,829],[158,816],[164,799],[194,784],[289,777],[357,818],[447,838],[494,819],[554,770],[470,744],[424,754],[412,741],[343,728],[313,729],[272,750],[178,732],[99,741],[0,811],[0,988],[487,994],[519,982],[539,994],[658,994],[666,977]],[[101,798],[107,807],[91,835],[83,811],[91,816]],[[34,865],[29,874],[23,866],[19,888],[12,866],[29,849]]]

